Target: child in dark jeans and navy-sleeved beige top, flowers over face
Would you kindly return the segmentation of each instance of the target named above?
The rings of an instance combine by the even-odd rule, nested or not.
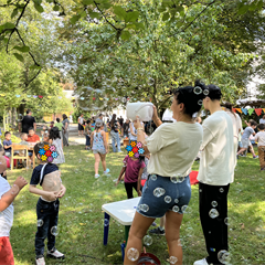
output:
[[[46,237],[46,256],[64,258],[64,254],[55,248],[55,236],[57,235],[59,198],[65,194],[66,189],[62,184],[61,172],[57,166],[52,163],[52,158],[56,156],[54,146],[50,147],[47,142],[39,142],[34,146],[34,151],[40,160],[40,165],[33,170],[30,182],[30,192],[40,195],[36,203],[35,264],[43,265],[45,264],[44,240]],[[36,188],[38,184],[42,187],[42,190]]]

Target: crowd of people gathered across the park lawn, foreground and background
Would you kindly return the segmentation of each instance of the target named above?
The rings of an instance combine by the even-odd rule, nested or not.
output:
[[[162,123],[153,106],[151,123],[142,123],[123,117],[104,123],[103,115],[85,119],[78,117],[78,135],[86,137],[86,149],[92,149],[95,157],[95,178],[99,178],[102,162],[104,174],[109,173],[106,155],[109,152],[107,134],[112,138],[113,152],[123,152],[120,138],[139,145],[144,156],[126,156],[116,186],[123,180],[127,198],[131,199],[135,189],[140,197],[139,204],[129,232],[126,246],[125,265],[137,264],[142,247],[142,239],[156,219],[160,219],[159,230],[150,231],[166,234],[170,264],[182,264],[180,227],[186,209],[191,199],[189,174],[194,160],[200,156],[199,214],[205,239],[208,256],[194,262],[194,265],[221,265],[227,262],[227,194],[234,181],[234,169],[239,157],[248,148],[253,158],[259,157],[261,170],[265,170],[265,115],[257,125],[254,120],[246,123],[243,130],[241,117],[226,103],[221,107],[221,89],[216,85],[205,85],[199,81],[194,86],[180,87],[173,92],[171,110],[176,123]],[[201,125],[200,113],[204,107],[210,115]],[[44,126],[41,139],[35,134],[36,123],[31,112],[20,123],[21,145],[34,142],[34,153],[40,163],[33,169],[30,192],[40,195],[36,203],[38,231],[35,234],[35,264],[43,265],[44,240],[47,237],[47,256],[64,258],[55,248],[60,198],[66,188],[61,180],[60,166],[65,162],[63,146],[68,146],[70,120]],[[255,132],[256,127],[258,132]],[[150,128],[153,130],[150,134]],[[148,136],[149,135],[149,136]],[[258,156],[250,141],[251,135],[257,142]],[[173,137],[172,137],[173,136]],[[12,153],[11,134],[4,132],[0,156],[0,264],[14,264],[9,233],[13,221],[12,202],[20,190],[28,184],[19,177],[10,188],[7,181],[7,160]],[[42,152],[54,146],[57,156],[52,162],[43,160]],[[239,150],[240,146],[240,150]],[[45,149],[47,148],[47,149]],[[200,155],[199,155],[200,153]],[[6,156],[6,158],[3,157]],[[30,152],[31,157],[33,153]],[[23,161],[21,161],[23,163]],[[145,186],[141,187],[141,180]],[[41,186],[41,189],[38,186]],[[3,261],[3,262],[2,262]],[[2,263],[1,263],[2,262]]]

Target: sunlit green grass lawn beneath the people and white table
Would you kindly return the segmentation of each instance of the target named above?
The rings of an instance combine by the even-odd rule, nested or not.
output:
[[[120,243],[124,227],[110,220],[108,245],[103,245],[104,213],[102,204],[125,200],[123,184],[117,188],[114,179],[123,166],[124,153],[107,156],[109,177],[94,178],[94,156],[84,146],[65,148],[66,163],[61,167],[62,180],[67,188],[61,199],[59,218],[60,233],[56,247],[66,258],[62,262],[46,259],[46,264],[97,264],[119,265]],[[193,169],[198,170],[198,162]],[[30,181],[32,170],[8,172],[12,183],[18,176]],[[103,173],[100,168],[99,173]],[[265,264],[265,171],[261,172],[258,159],[240,158],[235,171],[235,182],[229,193],[229,237],[232,264]],[[181,225],[183,265],[205,257],[205,244],[199,220],[198,186],[192,187],[190,213],[184,214]],[[136,193],[135,193],[136,195]],[[36,232],[35,204],[38,197],[24,188],[14,201],[14,222],[11,230],[11,244],[15,265],[34,264],[34,234]],[[157,221],[159,223],[159,221]],[[168,251],[165,236],[152,236],[148,252],[167,262]]]

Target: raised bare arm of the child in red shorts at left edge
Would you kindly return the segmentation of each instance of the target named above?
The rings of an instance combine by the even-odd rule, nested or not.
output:
[[[6,192],[0,199],[0,212],[6,210],[13,202],[14,198],[26,184],[28,184],[26,180],[22,177],[19,177],[14,181],[13,187],[8,192]]]

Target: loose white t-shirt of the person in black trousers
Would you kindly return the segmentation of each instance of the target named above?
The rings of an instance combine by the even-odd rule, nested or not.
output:
[[[203,142],[198,180],[211,186],[234,181],[236,152],[233,123],[226,112],[219,110],[203,124]]]

